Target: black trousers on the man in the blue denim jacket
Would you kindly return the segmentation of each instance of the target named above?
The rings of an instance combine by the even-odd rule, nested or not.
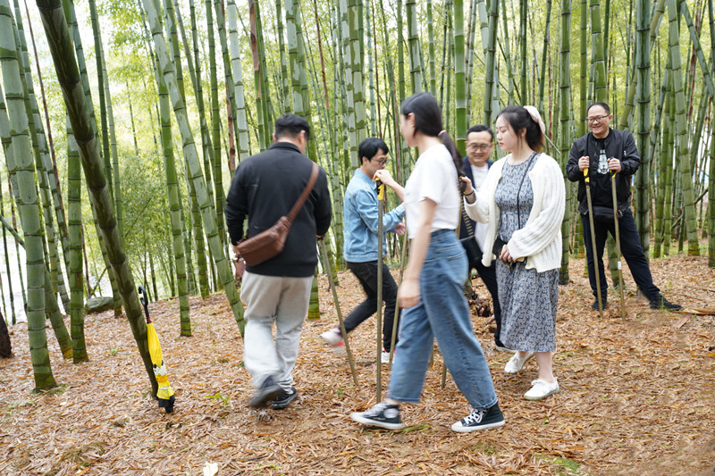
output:
[[[366,263],[348,262],[348,269],[355,274],[360,282],[360,286],[365,290],[367,299],[360,303],[352,313],[345,318],[345,330],[350,333],[357,328],[361,322],[377,312],[377,261]],[[385,303],[385,313],[383,315],[383,347],[391,352],[392,327],[399,326],[400,310],[397,311],[395,319],[395,307],[397,305],[397,283],[390,274],[390,268],[383,263],[383,301]],[[397,338],[395,339],[397,344]]]

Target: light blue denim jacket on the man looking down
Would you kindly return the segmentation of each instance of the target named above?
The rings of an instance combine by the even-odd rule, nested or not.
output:
[[[345,247],[343,258],[352,263],[377,261],[377,191],[374,181],[357,169],[345,190],[342,207]],[[394,231],[405,216],[405,208],[397,206],[383,215],[383,230]],[[383,250],[384,248],[383,236]]]

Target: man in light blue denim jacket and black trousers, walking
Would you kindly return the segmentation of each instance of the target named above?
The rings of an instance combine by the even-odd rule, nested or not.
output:
[[[377,214],[378,200],[374,173],[382,170],[387,163],[389,152],[387,145],[380,138],[366,138],[357,152],[362,165],[353,174],[348,188],[345,190],[343,204],[344,221],[344,251],[343,258],[348,268],[355,274],[360,285],[365,289],[367,298],[358,305],[345,319],[345,330],[349,333],[357,328],[360,322],[377,311]],[[397,206],[390,213],[383,215],[383,230],[394,231],[398,235],[405,232],[402,217],[405,208]],[[381,238],[384,243],[384,236]],[[383,249],[385,249],[383,245]],[[383,265],[383,299],[385,313],[383,322],[383,355],[382,361],[390,359],[392,327],[398,325],[400,311],[395,319],[397,304],[397,284],[390,274],[390,269]],[[333,348],[343,345],[343,337],[339,328],[325,331],[320,336]]]

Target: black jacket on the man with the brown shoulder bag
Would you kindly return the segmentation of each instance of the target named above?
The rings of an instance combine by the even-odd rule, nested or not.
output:
[[[273,226],[290,213],[313,168],[313,162],[290,142],[276,142],[264,152],[243,160],[233,173],[226,196],[226,226],[231,243],[243,238],[243,221],[248,215],[247,238]],[[317,263],[315,236],[330,227],[332,205],[328,181],[321,168],[313,190],[296,215],[281,254],[248,266],[249,272],[265,276],[312,276]]]

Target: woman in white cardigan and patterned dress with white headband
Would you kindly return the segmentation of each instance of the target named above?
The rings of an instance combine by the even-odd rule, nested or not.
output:
[[[524,397],[541,400],[559,392],[551,353],[556,350],[563,174],[551,156],[541,153],[544,126],[534,106],[504,108],[496,133],[501,150],[510,154],[492,165],[478,194],[462,179],[465,206],[473,220],[489,223],[484,248],[499,258],[501,341],[517,351],[504,372],[521,371],[535,356],[539,378]],[[484,253],[482,263],[489,266],[492,259],[492,253]]]

